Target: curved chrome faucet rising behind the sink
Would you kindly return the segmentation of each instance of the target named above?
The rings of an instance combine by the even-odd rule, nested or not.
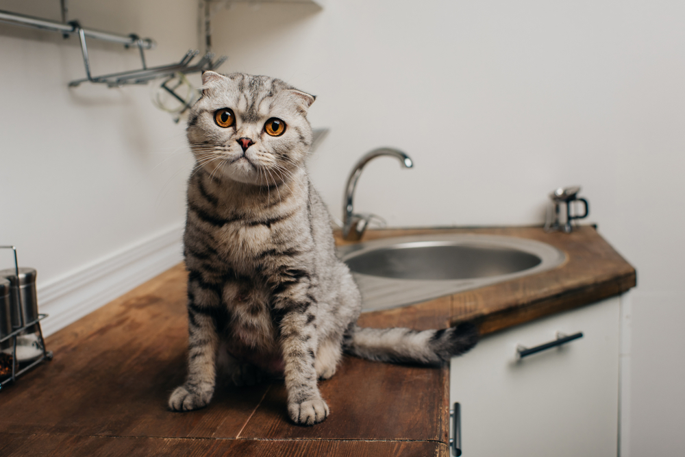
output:
[[[360,158],[349,174],[347,186],[345,186],[345,201],[343,202],[343,238],[345,240],[359,240],[373,217],[373,214],[355,213],[352,199],[354,197],[354,188],[357,186],[357,180],[362,174],[362,168],[364,168],[364,165],[366,165],[369,160],[378,156],[396,157],[404,168],[412,168],[412,166],[414,166],[414,162],[412,162],[412,159],[410,159],[406,153],[390,147],[373,149],[373,151],[366,153]]]

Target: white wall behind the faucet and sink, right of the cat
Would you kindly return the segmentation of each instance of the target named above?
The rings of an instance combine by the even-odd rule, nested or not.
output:
[[[390,225],[541,223],[553,188],[582,186],[638,269],[623,449],[638,456],[685,448],[684,23],[666,0],[338,0],[237,4],[212,24],[223,71],[319,96],[310,120],[332,131],[310,171],[338,217],[346,173],[382,145],[416,164],[360,179],[358,210]]]

